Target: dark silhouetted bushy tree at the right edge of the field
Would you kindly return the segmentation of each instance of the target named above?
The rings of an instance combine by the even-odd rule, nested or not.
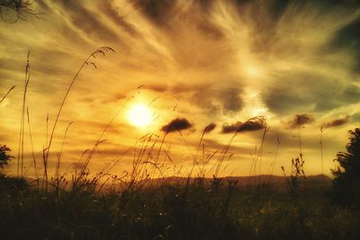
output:
[[[342,205],[360,206],[360,129],[350,130],[347,152],[339,152],[334,160],[338,167],[332,170],[333,197]]]

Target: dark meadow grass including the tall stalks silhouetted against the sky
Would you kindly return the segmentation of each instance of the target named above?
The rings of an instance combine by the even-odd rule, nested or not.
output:
[[[96,67],[93,59],[109,51],[113,50],[108,47],[96,49],[85,58],[68,84],[49,135],[47,128],[46,146],[42,150],[42,178],[33,154],[31,120],[26,104],[30,80],[28,55],[17,157],[18,175],[0,174],[2,239],[360,239],[358,210],[333,204],[326,195],[329,189],[325,188],[324,182],[313,186],[302,184],[306,178],[300,124],[299,157],[293,159],[292,174],[286,176],[284,172],[284,179],[288,181],[285,189],[276,188],[271,183],[271,175],[266,176],[266,182],[260,182],[260,178],[255,176],[262,173],[268,128],[264,129],[261,146],[255,149],[251,177],[244,182],[219,177],[229,164],[232,156],[229,147],[238,132],[231,136],[221,151],[204,156],[203,138],[207,128],[203,130],[193,155],[190,172],[184,173],[181,167],[174,166],[173,172],[182,177],[165,177],[169,164],[174,164],[168,150],[164,149],[169,132],[165,132],[162,138],[148,134],[137,139],[136,146],[139,147],[125,150],[100,173],[89,173],[88,164],[123,105],[94,141],[94,146],[85,150],[81,159],[73,164],[74,173],[71,179],[67,179],[67,170],[62,171],[60,167],[62,147],[56,159],[51,158],[55,156],[53,153],[50,155],[58,120],[77,76],[85,66]],[[35,180],[23,178],[25,114]],[[264,118],[253,118],[248,122],[255,120]],[[67,125],[62,144],[70,126],[71,123]],[[182,137],[184,146],[189,147],[181,130],[174,132]],[[280,140],[277,139],[270,173],[274,171],[279,147]],[[132,169],[113,175],[113,167],[130,151],[134,153]],[[199,156],[201,151],[202,156]],[[49,161],[56,161],[53,176],[49,176]],[[205,178],[205,175],[212,175],[212,178]]]

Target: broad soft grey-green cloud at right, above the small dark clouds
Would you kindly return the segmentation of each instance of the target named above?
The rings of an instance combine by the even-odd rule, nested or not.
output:
[[[340,77],[289,72],[276,76],[272,85],[263,91],[262,99],[270,111],[277,114],[306,110],[329,111],[358,102],[360,88]]]

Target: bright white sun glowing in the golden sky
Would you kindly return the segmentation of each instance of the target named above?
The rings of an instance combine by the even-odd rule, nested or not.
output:
[[[130,124],[138,128],[148,127],[153,121],[150,108],[144,104],[135,104],[128,111],[128,120]]]

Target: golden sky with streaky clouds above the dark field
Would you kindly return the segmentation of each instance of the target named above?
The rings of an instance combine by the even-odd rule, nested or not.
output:
[[[331,175],[359,125],[356,1],[37,0],[31,8],[38,17],[12,23],[9,11],[0,22],[0,97],[16,86],[0,103],[0,143],[15,156],[6,173],[16,174],[28,52],[30,177],[31,149],[41,171],[67,87],[103,46],[114,52],[90,57],[67,96],[51,173],[60,153],[61,172],[74,173],[100,139],[91,173],[114,163],[112,173],[131,172],[140,159],[144,168],[164,164],[166,175],[211,176],[219,161],[219,175],[281,175],[301,152],[306,174]],[[130,113],[139,106],[149,116]]]

